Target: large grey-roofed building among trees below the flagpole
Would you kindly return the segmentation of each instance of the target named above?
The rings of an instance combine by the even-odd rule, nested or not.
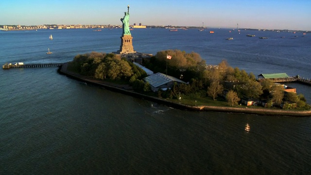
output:
[[[151,89],[154,92],[156,92],[158,89],[172,88],[175,82],[177,84],[187,84],[186,82],[179,80],[178,78],[165,75],[160,72],[147,76],[143,80],[150,84]]]

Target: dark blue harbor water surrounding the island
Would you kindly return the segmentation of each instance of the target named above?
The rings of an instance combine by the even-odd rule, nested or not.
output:
[[[138,52],[194,51],[207,64],[226,59],[255,75],[311,78],[309,35],[213,30],[131,33]],[[120,35],[121,29],[1,32],[0,64],[58,63],[79,53],[110,53],[119,49]],[[53,54],[45,54],[48,48]],[[1,69],[0,82],[0,174],[311,173],[309,117],[177,110],[82,84],[56,68]],[[310,87],[290,86],[311,102]]]

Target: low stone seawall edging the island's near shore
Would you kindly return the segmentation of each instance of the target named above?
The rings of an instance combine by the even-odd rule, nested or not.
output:
[[[126,95],[131,95],[136,98],[141,98],[149,101],[153,101],[159,104],[171,106],[178,109],[186,109],[191,111],[216,111],[216,112],[228,112],[228,113],[244,113],[244,114],[257,114],[257,115],[273,115],[273,116],[294,116],[294,117],[308,117],[311,116],[311,110],[306,111],[292,111],[292,110],[278,110],[278,109],[254,109],[246,107],[222,107],[222,106],[191,106],[183,105],[179,103],[174,103],[167,101],[165,99],[160,99],[144,94],[137,93],[133,91],[132,87],[129,85],[116,85],[113,83],[104,82],[101,80],[93,79],[87,76],[80,75],[75,72],[67,70],[68,63],[64,63],[58,70],[60,74],[66,75],[70,78],[76,79],[78,81],[86,82],[87,84],[99,86],[106,88],[111,91],[120,92]]]

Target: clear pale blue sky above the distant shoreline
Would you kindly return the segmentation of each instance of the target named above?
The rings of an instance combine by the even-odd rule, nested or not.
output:
[[[311,0],[1,0],[0,25],[130,24],[311,31]]]

